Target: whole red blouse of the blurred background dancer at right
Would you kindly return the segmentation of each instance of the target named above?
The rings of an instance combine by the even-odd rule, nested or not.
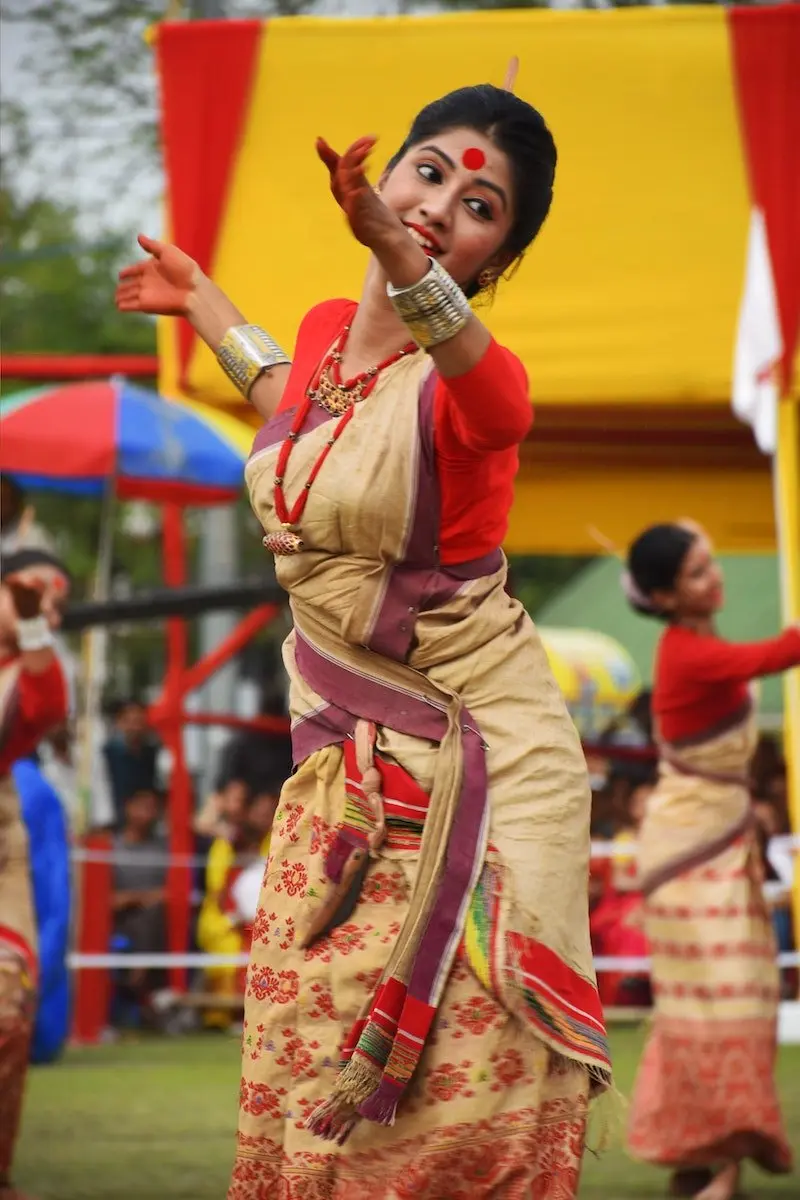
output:
[[[712,728],[739,709],[747,684],[800,666],[800,628],[763,642],[726,642],[670,625],[656,650],[652,710],[667,742]]]

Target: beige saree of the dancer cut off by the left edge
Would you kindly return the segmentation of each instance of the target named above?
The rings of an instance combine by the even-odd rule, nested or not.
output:
[[[0,744],[13,720],[17,667],[0,670]],[[36,980],[36,925],[28,835],[10,775],[0,778],[0,1186],[22,1115]]]

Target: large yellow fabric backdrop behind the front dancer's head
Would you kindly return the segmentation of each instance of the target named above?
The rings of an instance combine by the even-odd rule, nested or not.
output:
[[[748,199],[715,6],[270,22],[215,277],[291,346],[312,304],[357,294],[366,260],[327,192],[317,134],[343,146],[378,133],[378,169],[422,104],[499,83],[512,53],[517,90],[560,152],[553,214],[489,318],[535,402],[727,404]],[[205,347],[190,382],[235,398]]]

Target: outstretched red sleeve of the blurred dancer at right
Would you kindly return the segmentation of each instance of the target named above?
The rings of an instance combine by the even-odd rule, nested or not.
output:
[[[800,666],[800,628],[786,629],[763,642],[739,643],[688,630],[681,630],[680,638],[675,638],[678,630],[670,632],[672,668],[698,683],[747,683]]]

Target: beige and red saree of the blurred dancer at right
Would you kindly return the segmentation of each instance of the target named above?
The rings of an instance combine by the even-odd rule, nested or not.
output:
[[[776,946],[751,832],[756,737],[747,706],[666,746],[640,835],[655,1019],[628,1145],[663,1166],[792,1166],[774,1080]]]

